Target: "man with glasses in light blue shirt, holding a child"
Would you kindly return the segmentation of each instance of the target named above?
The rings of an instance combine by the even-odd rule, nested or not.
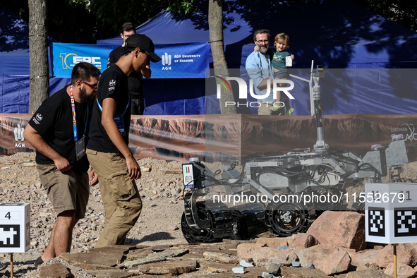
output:
[[[271,65],[271,59],[267,54],[268,46],[270,44],[270,31],[260,29],[253,32],[253,41],[258,48],[258,52],[252,52],[246,59],[246,71],[248,71],[249,78],[253,80],[255,87],[255,95],[258,95],[258,114],[271,115],[284,114],[284,107],[282,102],[277,102],[281,99],[281,92],[277,91],[277,99],[274,99],[272,93],[274,70]],[[270,91],[267,87],[270,84]]]

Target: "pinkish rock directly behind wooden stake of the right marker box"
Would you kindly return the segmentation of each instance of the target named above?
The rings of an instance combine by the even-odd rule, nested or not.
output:
[[[377,264],[379,267],[388,267],[390,262],[394,262],[393,247],[391,244],[385,246],[377,254]],[[410,243],[400,243],[397,246],[397,262],[415,267],[417,265],[417,250]]]

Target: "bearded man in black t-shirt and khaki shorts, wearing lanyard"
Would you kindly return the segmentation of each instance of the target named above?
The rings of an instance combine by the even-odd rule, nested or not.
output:
[[[36,149],[40,181],[58,215],[36,267],[71,250],[73,227],[85,216],[90,191],[85,145],[99,75],[99,69],[90,63],[76,64],[71,85],[46,99],[23,133]],[[90,181],[91,185],[97,183],[94,170]]]

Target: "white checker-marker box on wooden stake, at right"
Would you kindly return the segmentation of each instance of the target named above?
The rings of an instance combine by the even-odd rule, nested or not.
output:
[[[417,183],[365,183],[365,241],[393,245],[417,242]]]

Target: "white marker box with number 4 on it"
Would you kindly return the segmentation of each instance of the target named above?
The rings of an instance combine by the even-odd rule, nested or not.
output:
[[[0,253],[30,248],[30,203],[0,203]]]

